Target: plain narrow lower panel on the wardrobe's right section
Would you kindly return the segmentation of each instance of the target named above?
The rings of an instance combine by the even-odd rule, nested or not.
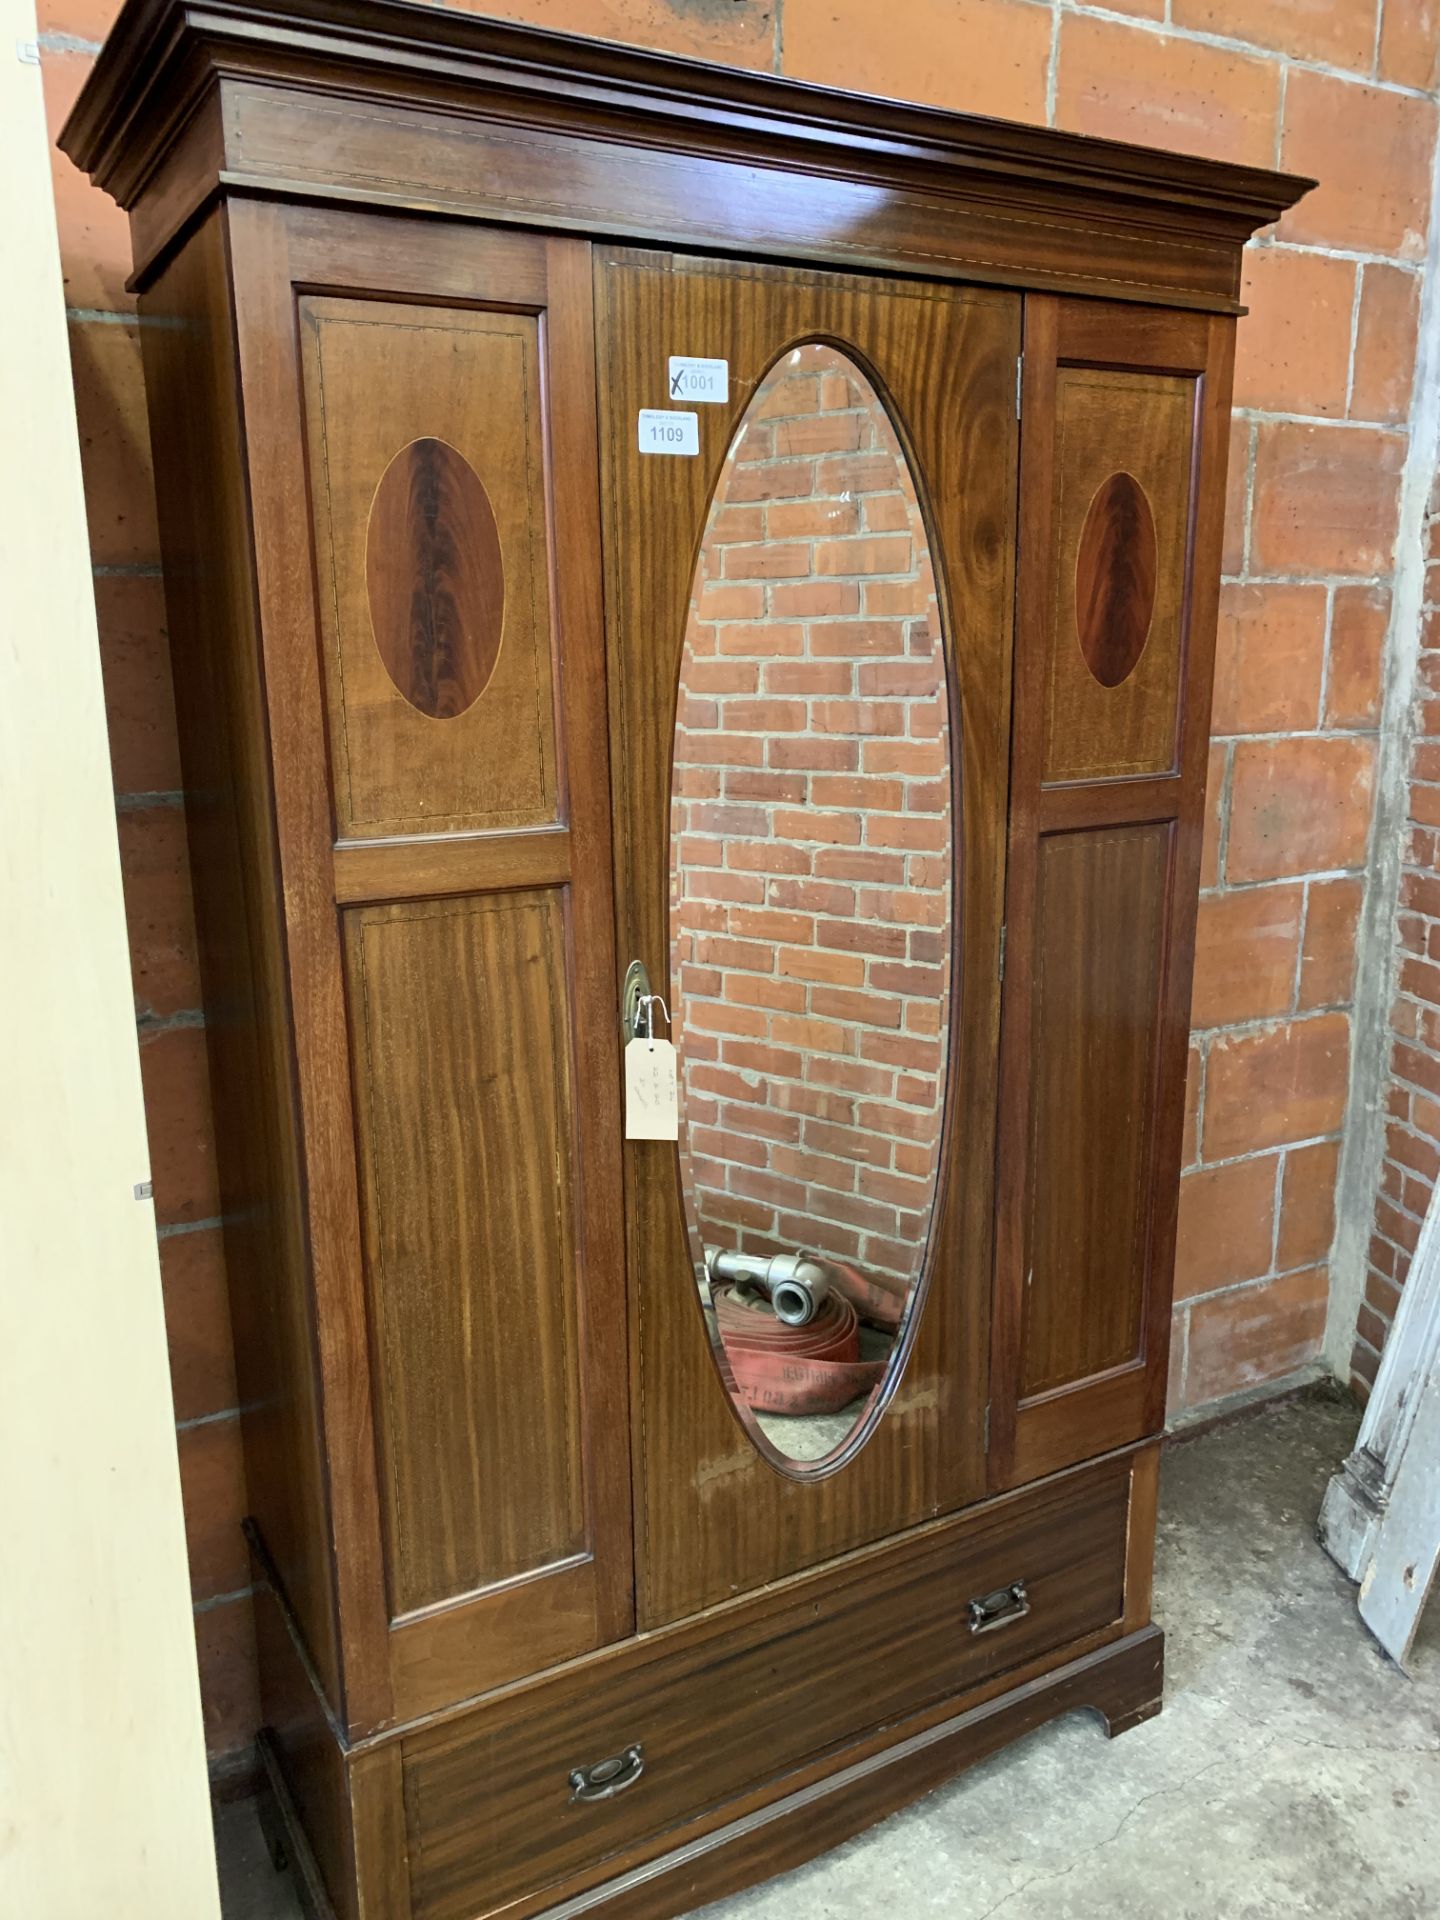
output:
[[[1169,833],[1041,841],[1021,1398],[1139,1356]]]

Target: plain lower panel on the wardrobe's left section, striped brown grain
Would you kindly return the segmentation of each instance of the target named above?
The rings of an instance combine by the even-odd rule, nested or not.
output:
[[[561,895],[346,914],[394,1615],[584,1548]]]

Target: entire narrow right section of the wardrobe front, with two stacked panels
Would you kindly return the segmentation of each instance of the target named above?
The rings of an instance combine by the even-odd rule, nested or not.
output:
[[[995,1486],[1165,1415],[1231,334],[1025,301]]]

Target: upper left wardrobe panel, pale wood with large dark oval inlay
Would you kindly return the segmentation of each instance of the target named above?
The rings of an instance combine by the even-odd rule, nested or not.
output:
[[[300,317],[338,835],[555,820],[536,317]]]

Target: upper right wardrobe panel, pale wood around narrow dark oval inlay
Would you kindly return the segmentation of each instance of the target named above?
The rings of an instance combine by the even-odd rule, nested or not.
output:
[[[1175,374],[1056,372],[1046,781],[1175,766],[1194,401]]]

